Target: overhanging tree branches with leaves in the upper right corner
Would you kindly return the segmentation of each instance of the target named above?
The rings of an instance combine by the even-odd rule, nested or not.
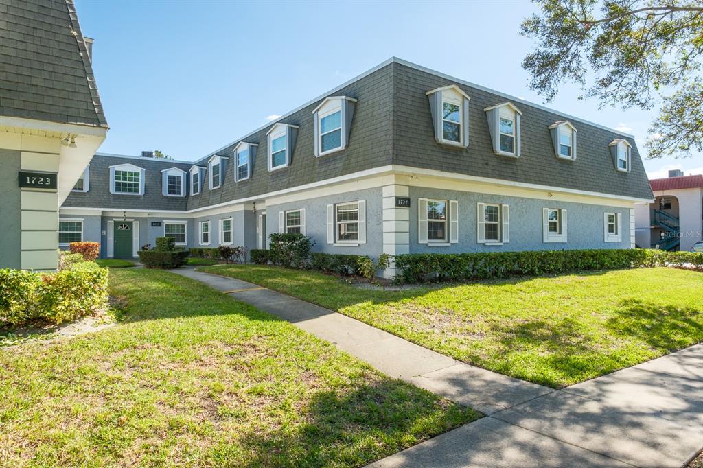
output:
[[[522,22],[538,41],[522,66],[530,87],[551,100],[562,83],[581,98],[651,109],[649,157],[703,151],[703,5],[671,0],[536,0],[541,12]]]

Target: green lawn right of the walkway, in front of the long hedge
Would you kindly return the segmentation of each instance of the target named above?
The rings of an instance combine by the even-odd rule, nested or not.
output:
[[[643,268],[403,291],[271,266],[202,271],[340,311],[465,363],[556,388],[703,342],[703,274]]]

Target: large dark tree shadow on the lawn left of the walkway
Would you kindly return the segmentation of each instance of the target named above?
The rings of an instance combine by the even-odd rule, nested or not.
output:
[[[479,418],[426,391],[383,379],[349,391],[323,391],[299,409],[301,424],[245,434],[214,449],[217,464],[251,467],[363,466]]]

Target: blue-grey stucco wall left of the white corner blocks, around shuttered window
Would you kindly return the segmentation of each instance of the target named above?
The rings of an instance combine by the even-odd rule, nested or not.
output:
[[[327,243],[327,205],[366,200],[366,244],[337,246]],[[313,252],[378,256],[383,252],[382,193],[381,188],[367,188],[354,192],[337,193],[299,202],[266,206],[268,233],[278,233],[278,213],[305,209],[305,234],[314,240]]]

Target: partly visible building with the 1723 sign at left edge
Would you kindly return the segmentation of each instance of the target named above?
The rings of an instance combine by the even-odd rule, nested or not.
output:
[[[108,124],[72,0],[0,0],[0,268],[58,265],[58,209]]]

